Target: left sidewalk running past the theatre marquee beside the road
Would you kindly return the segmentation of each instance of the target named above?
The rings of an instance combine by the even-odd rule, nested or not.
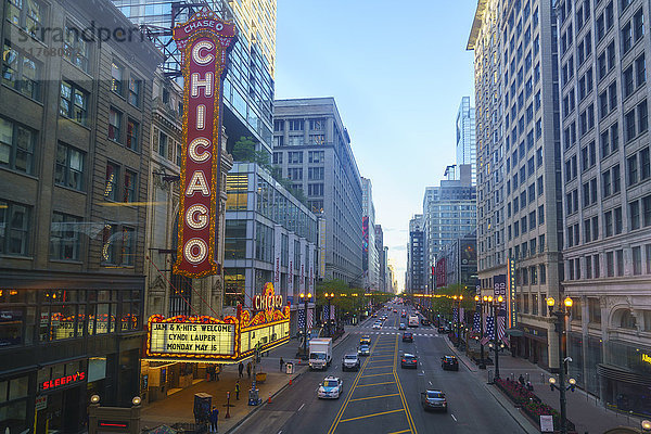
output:
[[[333,343],[333,346],[343,342],[349,332],[346,331],[339,340]],[[260,363],[257,365],[257,370],[267,373],[267,380],[264,383],[257,383],[259,397],[263,404],[259,406],[248,406],[248,390],[251,388],[251,379],[246,375],[240,379],[240,400],[235,399],[235,382],[238,381],[238,365],[224,365],[219,381],[208,382],[205,380],[195,380],[195,384],[181,390],[174,395],[168,395],[165,399],[151,403],[143,406],[141,412],[141,426],[143,429],[154,429],[161,424],[173,425],[175,423],[194,423],[194,414],[192,406],[194,394],[203,392],[213,395],[213,405],[219,409],[219,432],[227,433],[248,417],[259,410],[267,404],[269,396],[271,399],[285,387],[289,386],[290,379],[294,381],[307,370],[306,361],[299,363],[295,359],[297,341],[290,340],[289,343],[269,352],[268,357],[263,357]],[[294,363],[294,373],[289,375],[284,369],[280,371],[280,358],[285,362]],[[227,392],[230,392],[230,418],[226,419]]]

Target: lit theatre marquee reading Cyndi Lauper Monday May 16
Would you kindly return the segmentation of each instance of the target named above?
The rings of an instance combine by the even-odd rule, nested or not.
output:
[[[238,306],[235,316],[153,315],[148,321],[146,359],[233,362],[290,340],[290,306],[282,305],[272,283],[254,299],[253,314]]]

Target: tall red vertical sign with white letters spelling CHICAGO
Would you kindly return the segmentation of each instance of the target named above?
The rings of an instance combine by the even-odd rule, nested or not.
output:
[[[179,235],[174,271],[219,272],[216,260],[221,161],[221,95],[237,30],[207,8],[174,28],[183,68],[183,141]]]

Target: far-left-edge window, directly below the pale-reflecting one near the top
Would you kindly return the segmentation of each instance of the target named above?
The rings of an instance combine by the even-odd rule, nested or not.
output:
[[[36,133],[0,117],[0,167],[31,174]]]

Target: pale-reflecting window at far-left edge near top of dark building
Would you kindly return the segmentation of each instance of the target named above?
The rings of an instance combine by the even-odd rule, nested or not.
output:
[[[2,82],[10,88],[40,101],[41,64],[29,55],[4,42],[2,55]]]

